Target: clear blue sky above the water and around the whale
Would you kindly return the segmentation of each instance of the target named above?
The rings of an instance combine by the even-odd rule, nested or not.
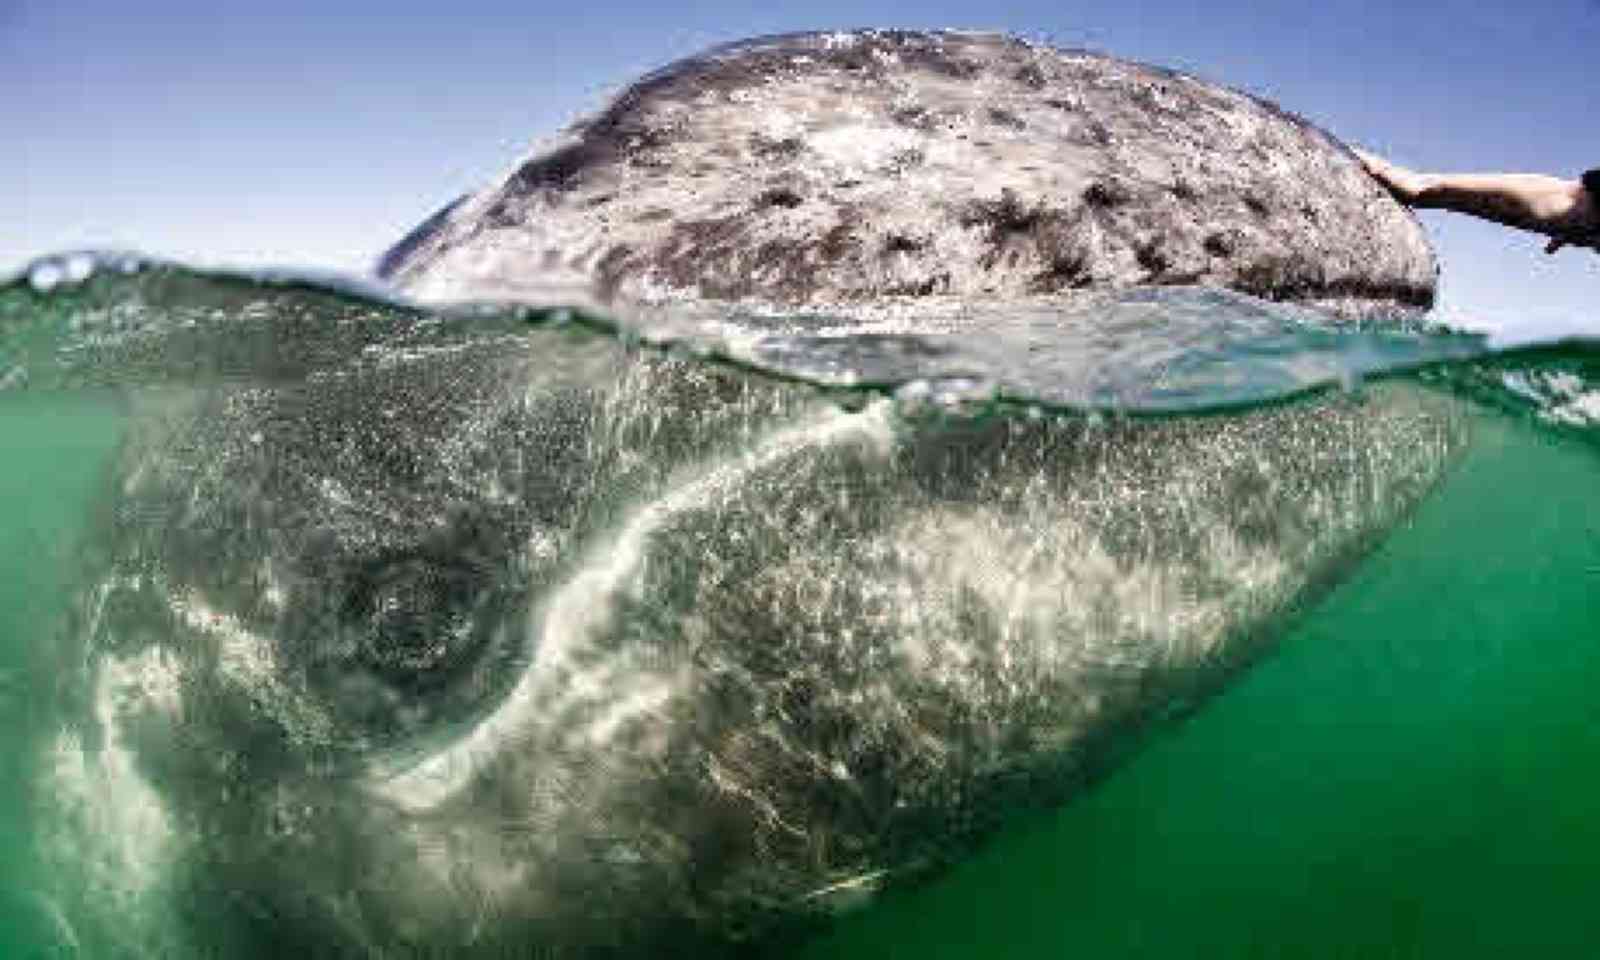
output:
[[[997,29],[1158,62],[1414,166],[1600,166],[1600,0],[0,0],[0,272],[83,246],[362,272],[643,70],[848,26]],[[1424,222],[1451,317],[1600,334],[1600,256]]]

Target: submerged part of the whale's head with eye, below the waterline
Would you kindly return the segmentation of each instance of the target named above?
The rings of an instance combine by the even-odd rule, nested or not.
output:
[[[61,355],[139,389],[40,779],[86,952],[706,955],[814,922],[1069,795],[1462,442],[1403,386],[850,410],[518,314],[94,283]]]

